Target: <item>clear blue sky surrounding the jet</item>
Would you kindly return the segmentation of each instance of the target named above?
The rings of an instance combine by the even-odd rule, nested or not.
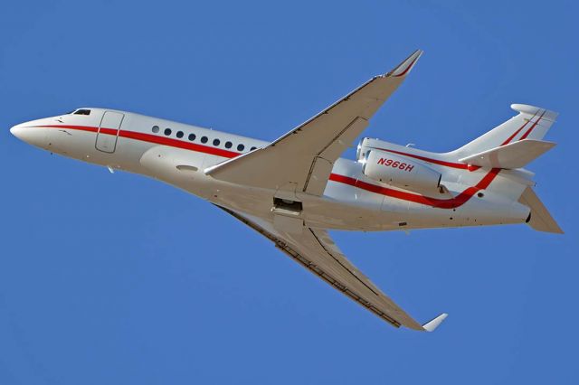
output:
[[[0,13],[0,383],[577,383],[574,2],[9,2]],[[365,136],[446,151],[528,103],[565,230],[334,233],[436,333],[394,329],[194,196],[8,128],[119,108],[272,140],[416,48]],[[352,155],[352,154],[347,154]]]

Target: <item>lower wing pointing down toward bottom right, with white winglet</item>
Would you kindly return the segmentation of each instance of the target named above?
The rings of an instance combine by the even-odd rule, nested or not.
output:
[[[358,304],[363,305],[388,324],[413,330],[432,332],[446,318],[441,314],[426,324],[418,324],[376,287],[368,277],[352,265],[337,248],[326,230],[305,227],[301,233],[289,233],[274,228],[269,220],[249,216],[217,206],[273,241],[275,246],[304,268]]]

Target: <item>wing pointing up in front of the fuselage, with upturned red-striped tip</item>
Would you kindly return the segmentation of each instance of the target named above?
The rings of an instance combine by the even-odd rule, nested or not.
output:
[[[254,187],[322,195],[334,162],[351,146],[422,51],[376,76],[269,146],[209,167],[214,178]]]

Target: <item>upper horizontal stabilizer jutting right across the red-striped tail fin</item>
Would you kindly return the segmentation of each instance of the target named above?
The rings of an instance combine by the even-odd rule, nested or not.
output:
[[[521,168],[554,146],[553,142],[523,139],[461,158],[459,162],[489,168]]]

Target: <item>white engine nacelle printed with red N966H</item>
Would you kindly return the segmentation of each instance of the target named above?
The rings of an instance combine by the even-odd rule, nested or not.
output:
[[[370,150],[366,153],[362,172],[376,181],[413,192],[437,191],[442,176],[432,168],[405,156],[380,150]]]

